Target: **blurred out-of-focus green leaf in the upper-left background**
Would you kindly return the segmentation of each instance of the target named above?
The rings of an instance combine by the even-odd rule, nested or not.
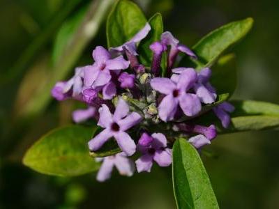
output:
[[[73,17],[70,17],[70,19],[67,20],[67,22],[65,22],[59,29],[54,41],[54,48],[52,52],[53,63],[56,63],[56,61],[61,59],[61,56],[67,49],[70,42],[73,40],[73,36],[75,35],[75,32],[82,23],[82,20],[84,19],[84,16],[86,15],[88,8],[89,7],[87,5],[84,8],[77,11],[77,13],[75,13]]]

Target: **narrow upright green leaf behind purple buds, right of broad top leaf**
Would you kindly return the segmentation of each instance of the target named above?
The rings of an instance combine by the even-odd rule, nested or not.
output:
[[[149,31],[149,34],[140,42],[140,45],[138,47],[138,51],[140,52],[140,61],[145,66],[151,66],[152,62],[152,56],[153,53],[149,46],[158,40],[160,40],[161,34],[164,31],[163,26],[163,19],[162,15],[160,13],[156,13],[149,19],[149,24],[151,26],[151,31]],[[167,59],[166,55],[163,55],[161,68],[163,69],[163,72],[167,68]]]

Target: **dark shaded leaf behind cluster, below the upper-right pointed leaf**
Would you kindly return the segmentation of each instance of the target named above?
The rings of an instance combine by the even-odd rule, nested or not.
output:
[[[234,54],[220,57],[212,68],[211,84],[219,94],[232,96],[236,88],[236,61]]]

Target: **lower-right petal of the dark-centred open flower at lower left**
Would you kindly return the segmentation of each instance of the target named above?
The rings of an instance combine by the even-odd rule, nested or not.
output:
[[[128,156],[133,155],[136,150],[135,141],[126,132],[118,132],[114,134],[117,144]]]

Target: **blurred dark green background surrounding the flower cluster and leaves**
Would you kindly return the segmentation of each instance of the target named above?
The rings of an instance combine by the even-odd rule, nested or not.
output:
[[[91,24],[97,33],[87,37],[85,47],[73,43],[79,38],[68,38],[88,8],[97,14],[93,20],[107,17],[105,1],[103,7],[88,0],[0,1],[0,208],[175,208],[170,169],[154,167],[133,178],[114,173],[97,183],[96,173],[58,178],[21,163],[33,141],[71,123],[78,104],[50,100],[45,86],[69,77],[74,65],[91,63],[92,49],[106,45],[104,21]],[[188,46],[222,24],[253,17],[251,33],[234,47],[239,83],[233,98],[279,103],[279,1],[135,2],[146,17],[162,13],[165,29]],[[66,52],[57,42],[68,46]],[[212,156],[202,157],[220,208],[279,207],[278,137],[276,131],[229,134],[206,148]]]

